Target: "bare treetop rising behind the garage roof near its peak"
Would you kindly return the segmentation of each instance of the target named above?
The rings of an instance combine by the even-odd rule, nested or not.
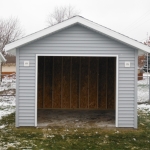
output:
[[[47,23],[52,26],[79,14],[80,12],[70,5],[65,7],[55,7],[53,13],[48,15]]]

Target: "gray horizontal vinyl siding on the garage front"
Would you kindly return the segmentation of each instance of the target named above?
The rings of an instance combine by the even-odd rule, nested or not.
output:
[[[135,127],[135,53],[137,50],[81,25],[74,25],[17,49],[18,126],[35,126],[36,54],[118,55],[118,126]],[[29,67],[23,62],[30,61]],[[131,67],[125,68],[124,62]]]

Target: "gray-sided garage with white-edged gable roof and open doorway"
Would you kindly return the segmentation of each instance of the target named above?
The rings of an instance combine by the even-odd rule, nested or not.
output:
[[[37,126],[37,109],[115,110],[137,128],[138,54],[150,47],[76,16],[13,43],[16,127]]]

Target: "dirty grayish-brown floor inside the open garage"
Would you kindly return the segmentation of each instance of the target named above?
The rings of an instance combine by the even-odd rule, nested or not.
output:
[[[39,127],[115,127],[115,111],[38,109]]]

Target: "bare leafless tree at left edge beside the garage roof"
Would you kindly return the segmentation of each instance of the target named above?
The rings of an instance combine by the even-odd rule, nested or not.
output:
[[[5,45],[21,36],[23,36],[23,30],[20,28],[17,18],[0,19],[0,52],[4,53]]]

